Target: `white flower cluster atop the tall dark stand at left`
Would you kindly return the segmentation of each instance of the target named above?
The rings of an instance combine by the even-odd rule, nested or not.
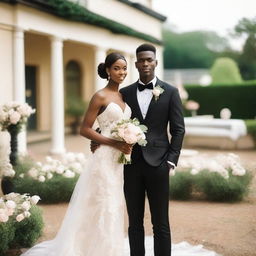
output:
[[[8,130],[9,126],[21,127],[27,122],[28,117],[35,113],[27,103],[10,102],[0,106],[0,130]]]

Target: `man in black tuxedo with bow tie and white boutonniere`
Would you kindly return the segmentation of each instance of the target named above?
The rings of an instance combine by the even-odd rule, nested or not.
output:
[[[124,167],[124,193],[129,216],[131,256],[144,256],[144,208],[147,195],[154,233],[154,255],[171,255],[169,226],[169,172],[177,165],[184,136],[184,119],[178,90],[155,76],[156,49],[136,49],[139,80],[120,90],[131,107],[131,118],[148,127],[147,145],[136,144],[132,163]],[[169,129],[171,139],[168,139]],[[173,170],[171,170],[173,169]]]

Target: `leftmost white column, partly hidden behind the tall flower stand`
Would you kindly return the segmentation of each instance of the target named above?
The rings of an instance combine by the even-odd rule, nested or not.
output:
[[[13,31],[13,100],[25,103],[25,57],[24,31],[15,27]],[[27,152],[27,135],[23,130],[18,136],[18,151]]]

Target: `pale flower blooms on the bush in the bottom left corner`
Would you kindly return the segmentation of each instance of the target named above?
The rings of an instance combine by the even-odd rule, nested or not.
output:
[[[11,219],[21,222],[31,216],[30,209],[36,205],[40,197],[28,194],[10,193],[0,197],[0,223],[7,222]]]

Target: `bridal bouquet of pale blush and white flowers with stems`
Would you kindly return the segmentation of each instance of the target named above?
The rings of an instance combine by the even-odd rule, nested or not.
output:
[[[146,146],[147,127],[141,125],[138,119],[124,119],[118,122],[115,127],[111,130],[112,136],[121,141],[125,141],[128,144],[138,143],[140,146]],[[121,153],[118,158],[118,162],[122,164],[131,163],[131,155]]]

